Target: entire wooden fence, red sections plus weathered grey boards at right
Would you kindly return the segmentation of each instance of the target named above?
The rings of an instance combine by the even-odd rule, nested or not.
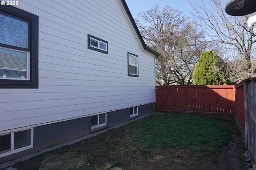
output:
[[[156,111],[234,117],[256,164],[256,78],[235,86],[156,86]]]

